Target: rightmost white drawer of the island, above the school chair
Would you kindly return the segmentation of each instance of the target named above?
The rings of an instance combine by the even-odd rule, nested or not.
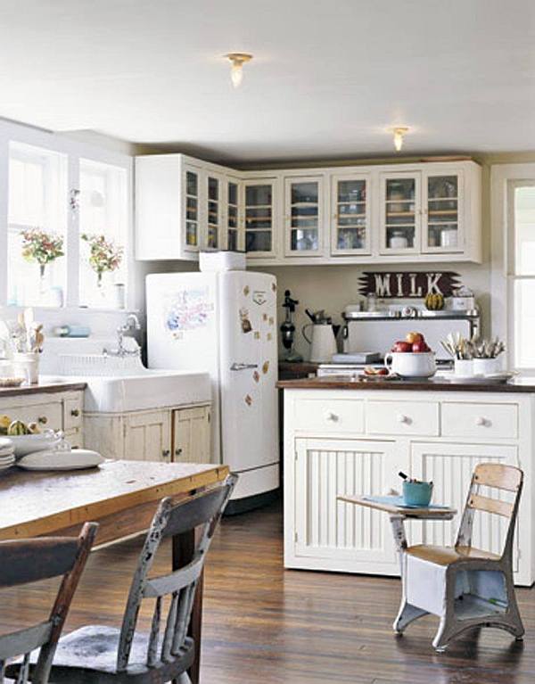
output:
[[[497,437],[514,440],[518,436],[518,407],[511,404],[442,404],[442,434],[445,437]]]

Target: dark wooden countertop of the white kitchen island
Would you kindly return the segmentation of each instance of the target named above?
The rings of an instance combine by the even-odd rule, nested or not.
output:
[[[508,383],[452,383],[444,377],[429,380],[359,380],[342,375],[280,380],[277,387],[284,390],[409,390],[409,391],[480,391],[524,392],[535,394],[535,377],[516,377]]]

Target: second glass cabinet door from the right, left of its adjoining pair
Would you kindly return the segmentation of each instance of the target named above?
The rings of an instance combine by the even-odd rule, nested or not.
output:
[[[405,254],[420,249],[420,174],[382,174],[381,253]]]

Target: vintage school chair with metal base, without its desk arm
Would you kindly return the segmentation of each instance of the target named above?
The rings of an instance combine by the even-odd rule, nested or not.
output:
[[[440,616],[432,642],[439,652],[474,627],[498,627],[522,639],[513,581],[514,529],[522,488],[519,468],[491,463],[475,466],[455,546],[419,544],[403,551],[403,595],[394,630],[401,633],[410,622],[431,613]],[[501,554],[473,548],[476,513],[508,521]]]

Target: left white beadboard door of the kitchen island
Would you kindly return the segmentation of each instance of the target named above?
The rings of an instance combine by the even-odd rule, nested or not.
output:
[[[385,494],[404,467],[394,441],[295,441],[294,556],[303,566],[398,573],[387,515],[338,501],[342,494]]]

